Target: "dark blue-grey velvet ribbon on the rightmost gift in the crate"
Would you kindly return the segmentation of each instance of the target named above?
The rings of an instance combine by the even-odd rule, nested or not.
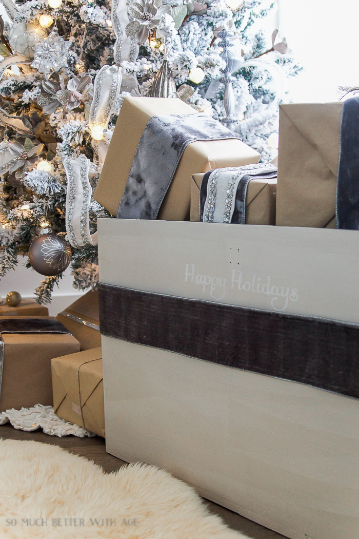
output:
[[[359,230],[359,98],[343,103],[336,190],[336,225]]]

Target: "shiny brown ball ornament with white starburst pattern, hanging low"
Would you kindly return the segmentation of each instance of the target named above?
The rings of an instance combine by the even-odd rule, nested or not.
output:
[[[46,277],[59,275],[71,262],[71,247],[67,241],[52,232],[41,233],[29,248],[29,260],[35,271]]]

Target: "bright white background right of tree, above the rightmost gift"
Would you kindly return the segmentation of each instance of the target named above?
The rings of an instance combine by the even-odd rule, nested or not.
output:
[[[359,87],[359,1],[277,0],[280,33],[304,71],[288,81],[291,101],[337,101]]]

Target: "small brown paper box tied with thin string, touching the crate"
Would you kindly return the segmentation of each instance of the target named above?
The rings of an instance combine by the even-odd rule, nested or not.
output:
[[[101,347],[57,357],[51,368],[55,414],[104,437]]]

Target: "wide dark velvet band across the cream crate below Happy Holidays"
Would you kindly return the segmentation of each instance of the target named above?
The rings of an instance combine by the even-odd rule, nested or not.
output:
[[[354,324],[98,286],[102,335],[359,398]]]

